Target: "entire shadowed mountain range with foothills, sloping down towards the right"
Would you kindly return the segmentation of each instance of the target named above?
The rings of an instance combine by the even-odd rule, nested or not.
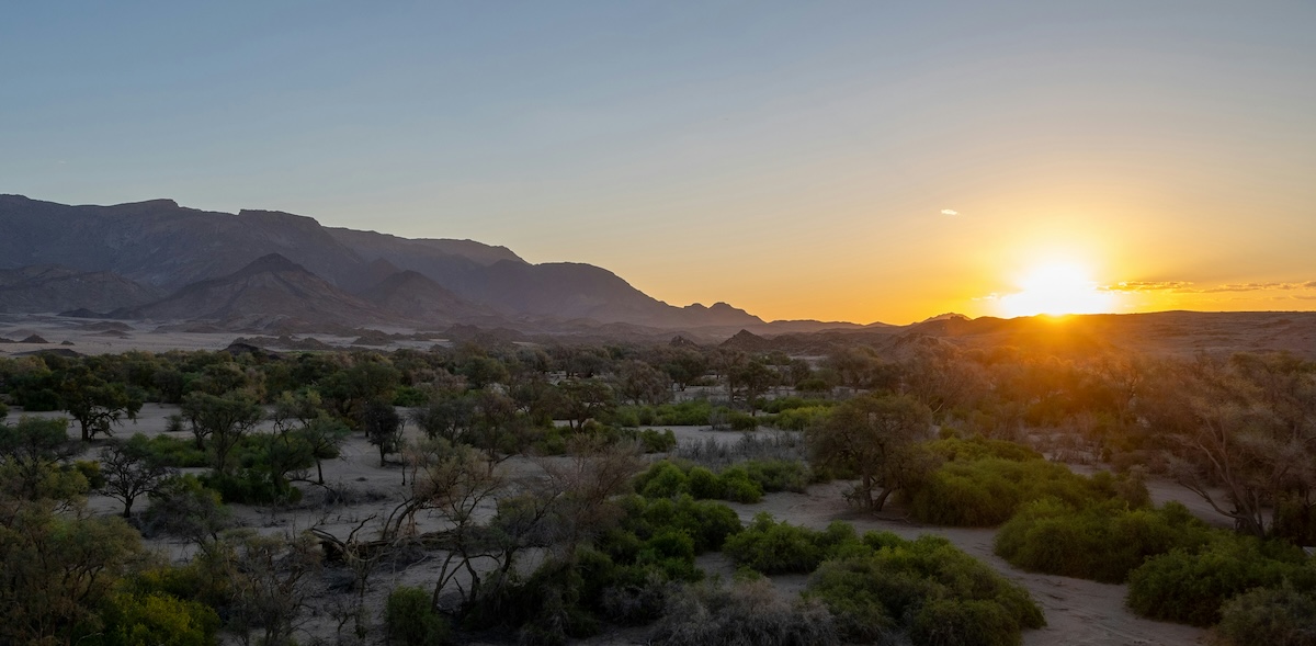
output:
[[[232,214],[172,200],[66,205],[0,195],[0,230],[5,313],[266,332],[622,325],[729,335],[862,328],[767,324],[725,303],[674,307],[591,264],[534,264],[501,246],[326,228],[276,211]]]

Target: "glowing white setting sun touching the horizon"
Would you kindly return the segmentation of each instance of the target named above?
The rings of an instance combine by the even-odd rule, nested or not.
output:
[[[1115,295],[1098,288],[1083,267],[1045,264],[1019,280],[1020,291],[999,299],[1008,317],[1036,314],[1095,314],[1115,309]]]

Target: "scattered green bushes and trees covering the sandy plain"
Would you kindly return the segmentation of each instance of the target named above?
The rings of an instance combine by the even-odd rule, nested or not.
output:
[[[841,478],[867,510],[1001,525],[996,553],[1016,567],[1126,582],[1142,616],[1219,625],[1230,643],[1311,643],[1316,570],[1296,545],[1316,537],[1312,363],[846,343],[822,358],[499,342],[0,358],[0,641],[291,643],[311,591],[343,571],[358,600],[343,625],[361,635],[382,617],[395,643],[471,630],[563,643],[609,624],[654,624],[666,643],[1016,643],[1041,625],[1026,593],[945,541],[763,514],[742,526],[719,503]],[[178,407],[171,433],[116,437],[145,401]],[[76,432],[26,414],[39,410]],[[754,433],[678,443],[663,426]],[[351,437],[399,472],[391,513],[346,539],[236,526],[232,505],[346,487],[325,482],[325,460]],[[515,455],[532,475],[503,464]],[[1148,472],[1240,532],[1150,507]],[[89,513],[92,492],[121,510]],[[142,535],[195,557],[159,563]],[[717,550],[736,580],[696,566]],[[374,564],[405,555],[438,574],[361,605]],[[811,579],[790,600],[747,572]]]

